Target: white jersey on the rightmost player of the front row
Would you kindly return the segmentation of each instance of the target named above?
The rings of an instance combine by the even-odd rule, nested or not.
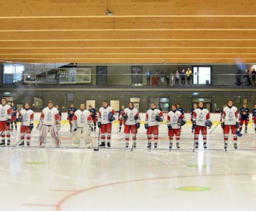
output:
[[[239,112],[236,107],[224,107],[222,111],[222,120],[225,125],[236,125],[239,122]]]

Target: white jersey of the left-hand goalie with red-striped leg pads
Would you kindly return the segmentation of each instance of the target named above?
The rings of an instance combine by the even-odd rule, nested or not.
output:
[[[41,113],[40,119],[43,119],[43,125],[55,125],[56,121],[60,121],[60,114],[56,107],[45,107]]]

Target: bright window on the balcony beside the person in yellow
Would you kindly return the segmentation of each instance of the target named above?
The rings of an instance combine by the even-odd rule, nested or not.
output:
[[[194,84],[211,84],[211,72],[212,67],[210,66],[194,66]]]

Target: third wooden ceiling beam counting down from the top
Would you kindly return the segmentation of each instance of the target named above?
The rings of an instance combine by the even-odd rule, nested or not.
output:
[[[256,31],[0,32],[2,40],[256,40]]]

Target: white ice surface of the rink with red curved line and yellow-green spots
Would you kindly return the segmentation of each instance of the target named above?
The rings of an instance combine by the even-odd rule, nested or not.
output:
[[[157,149],[146,148],[145,132],[141,125],[133,151],[131,142],[129,149],[124,147],[124,133],[117,133],[117,124],[111,148],[99,151],[84,148],[84,143],[72,148],[68,123],[59,131],[59,148],[50,137],[46,147],[38,147],[39,131],[34,129],[30,147],[12,149],[20,136],[11,132],[11,146],[0,148],[1,210],[255,210],[252,125],[238,138],[237,150],[229,140],[226,153],[220,125],[208,135],[208,149],[200,139],[194,153],[189,122],[182,127],[179,150],[174,140],[169,151],[166,125],[160,126]],[[91,135],[97,147],[98,128]]]

